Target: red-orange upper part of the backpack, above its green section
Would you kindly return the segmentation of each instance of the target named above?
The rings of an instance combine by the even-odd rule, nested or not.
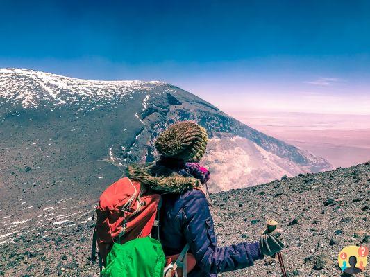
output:
[[[96,207],[96,225],[92,241],[95,260],[98,244],[99,267],[106,265],[106,256],[113,242],[123,244],[151,233],[158,211],[160,195],[148,193],[139,181],[121,178],[101,194]]]

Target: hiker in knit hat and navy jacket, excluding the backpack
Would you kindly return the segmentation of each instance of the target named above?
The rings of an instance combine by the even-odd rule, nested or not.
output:
[[[189,253],[195,258],[189,277],[211,277],[250,267],[255,260],[273,256],[284,247],[278,238],[280,229],[264,231],[258,242],[217,246],[208,200],[201,190],[210,178],[210,172],[199,166],[207,141],[207,132],[200,125],[191,121],[176,123],[155,141],[159,161],[128,166],[128,177],[162,194],[160,242],[167,257],[189,245]]]

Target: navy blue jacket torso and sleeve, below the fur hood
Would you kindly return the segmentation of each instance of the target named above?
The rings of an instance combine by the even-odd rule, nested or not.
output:
[[[196,259],[189,277],[217,276],[217,273],[242,269],[262,259],[258,242],[217,247],[208,202],[201,190],[162,195],[160,242],[166,256],[180,253],[185,244]]]

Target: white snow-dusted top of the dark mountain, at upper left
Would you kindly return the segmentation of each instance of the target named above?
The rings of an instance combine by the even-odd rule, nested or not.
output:
[[[156,81],[82,80],[26,69],[0,69],[3,102],[20,102],[24,108],[69,104],[82,107],[86,102],[115,105],[133,97],[135,91],[150,91],[163,84]]]

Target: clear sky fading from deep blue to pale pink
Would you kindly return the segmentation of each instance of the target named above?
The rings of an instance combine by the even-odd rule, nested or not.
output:
[[[0,67],[162,80],[233,114],[370,114],[370,1],[1,0]]]

